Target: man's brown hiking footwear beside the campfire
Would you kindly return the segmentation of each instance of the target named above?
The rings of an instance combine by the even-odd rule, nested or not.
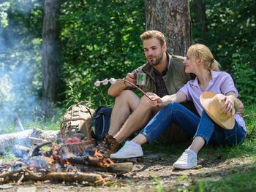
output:
[[[109,158],[111,153],[116,153],[118,147],[119,143],[116,139],[113,138],[112,135],[105,134],[105,138],[99,143],[97,150],[99,153],[102,153],[105,158]]]

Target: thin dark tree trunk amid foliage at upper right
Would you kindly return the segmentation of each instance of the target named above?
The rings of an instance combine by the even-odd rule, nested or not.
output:
[[[200,25],[200,33],[207,31],[206,6],[203,0],[194,0],[195,22]]]

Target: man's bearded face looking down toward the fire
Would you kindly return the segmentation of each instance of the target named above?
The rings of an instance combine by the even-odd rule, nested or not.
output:
[[[161,47],[159,40],[156,38],[146,39],[143,41],[143,50],[148,63],[152,66],[157,66],[162,61],[166,45],[164,44]]]

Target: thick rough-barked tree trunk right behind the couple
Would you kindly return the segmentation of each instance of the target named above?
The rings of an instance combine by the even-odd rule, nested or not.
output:
[[[192,45],[191,19],[187,0],[145,0],[146,30],[165,34],[167,50],[186,55]]]

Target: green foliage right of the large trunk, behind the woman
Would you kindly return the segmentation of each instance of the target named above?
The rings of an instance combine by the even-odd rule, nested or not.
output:
[[[255,102],[256,1],[206,0],[204,3],[208,28],[203,34],[192,12],[194,42],[210,47],[222,69],[234,77],[243,101]],[[193,10],[193,1],[191,7]]]

